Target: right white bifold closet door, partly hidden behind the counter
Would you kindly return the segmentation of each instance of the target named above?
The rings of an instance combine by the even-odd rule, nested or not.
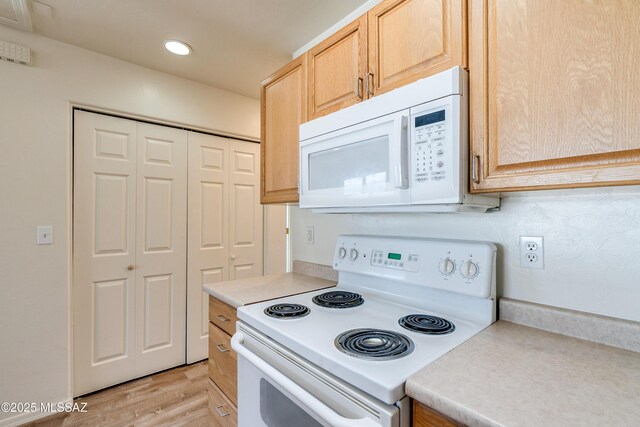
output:
[[[189,132],[187,362],[208,351],[202,285],[263,273],[260,145]]]

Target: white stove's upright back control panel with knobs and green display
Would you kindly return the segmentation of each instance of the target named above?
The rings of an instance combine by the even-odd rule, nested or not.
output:
[[[333,268],[476,297],[495,295],[492,243],[410,237],[338,237]]]

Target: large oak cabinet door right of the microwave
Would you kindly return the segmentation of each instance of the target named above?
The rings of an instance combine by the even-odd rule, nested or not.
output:
[[[634,0],[472,0],[472,190],[640,182]]]

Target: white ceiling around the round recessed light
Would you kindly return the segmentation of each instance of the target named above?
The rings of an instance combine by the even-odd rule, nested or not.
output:
[[[37,34],[253,98],[291,54],[366,0],[42,0]],[[50,13],[39,13],[42,3]],[[46,10],[46,7],[45,7]],[[175,56],[163,41],[193,53]]]

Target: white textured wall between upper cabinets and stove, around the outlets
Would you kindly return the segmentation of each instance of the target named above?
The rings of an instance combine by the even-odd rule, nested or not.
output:
[[[292,209],[293,259],[331,264],[341,233],[498,245],[498,295],[640,321],[640,187],[541,191],[486,214],[312,214]],[[315,245],[305,241],[315,227]],[[521,235],[544,237],[544,270],[520,268]]]

